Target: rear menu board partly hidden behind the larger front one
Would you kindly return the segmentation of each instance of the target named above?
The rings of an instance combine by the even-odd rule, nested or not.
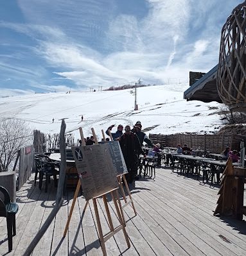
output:
[[[116,170],[117,175],[128,173],[127,165],[125,164],[125,159],[123,157],[121,147],[119,146],[119,141],[109,141],[107,145],[109,146],[109,152],[112,157],[114,169]]]

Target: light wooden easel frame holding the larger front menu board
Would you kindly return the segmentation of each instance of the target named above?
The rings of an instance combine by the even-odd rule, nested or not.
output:
[[[94,139],[95,139],[95,143],[98,144],[98,141],[96,139],[96,134],[94,133],[94,129],[91,128],[91,130],[92,130],[92,134],[93,134]],[[81,127],[80,127],[80,137],[81,137],[81,140],[82,140],[82,145],[85,146],[85,140],[84,140],[84,137],[83,137],[83,130],[82,130]],[[69,217],[68,217],[67,223],[66,223],[66,228],[64,230],[64,235],[63,235],[64,237],[66,237],[66,234],[67,234],[67,230],[68,230],[68,227],[69,227],[69,222],[70,222],[72,214],[73,214],[73,209],[75,207],[75,202],[76,202],[76,198],[78,197],[78,192],[80,190],[80,186],[81,186],[81,182],[80,182],[80,180],[78,180],[75,195],[73,197],[73,203],[71,205],[71,209],[70,209],[70,212],[69,212]],[[111,218],[111,215],[110,215],[110,212],[109,212],[109,206],[108,206],[108,201],[107,201],[107,197],[106,197],[106,195],[109,194],[109,193],[112,197],[112,200],[114,201],[114,206],[116,208],[116,212],[117,212],[119,223],[120,223],[119,226],[116,227],[116,228],[114,228],[114,226],[112,224],[112,218]],[[96,202],[96,199],[98,199],[99,197],[103,197],[103,203],[104,203],[105,210],[106,210],[106,213],[107,213],[107,218],[109,220],[110,231],[109,231],[109,233],[107,233],[105,235],[103,235],[103,231],[101,229],[100,216],[99,216],[99,213],[98,213],[98,205],[97,205],[97,202]],[[121,210],[119,210],[119,206],[118,206],[116,200],[119,202],[119,206],[120,206]],[[99,239],[100,239],[100,242],[101,242],[101,250],[103,251],[103,255],[107,255],[106,248],[105,248],[105,242],[108,239],[110,239],[110,237],[112,237],[114,234],[116,234],[119,230],[123,230],[125,240],[127,242],[127,246],[128,246],[128,248],[130,248],[130,242],[129,242],[129,239],[128,239],[127,231],[125,230],[125,221],[123,220],[123,217],[122,217],[123,215],[121,215],[123,213],[123,210],[122,210],[121,203],[120,203],[120,200],[119,200],[118,188],[114,188],[113,190],[110,190],[109,192],[103,193],[103,194],[101,194],[97,197],[93,197],[92,202],[93,202],[94,211],[95,211],[95,215],[96,215],[96,223],[98,225],[98,233],[99,233]],[[89,203],[89,201],[86,201],[85,207],[83,208],[83,212],[85,212],[85,209],[86,209],[88,203]]]

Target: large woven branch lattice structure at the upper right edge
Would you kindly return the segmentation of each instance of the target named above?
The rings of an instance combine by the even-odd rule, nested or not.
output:
[[[222,28],[217,89],[231,110],[246,113],[246,1],[234,8]]]

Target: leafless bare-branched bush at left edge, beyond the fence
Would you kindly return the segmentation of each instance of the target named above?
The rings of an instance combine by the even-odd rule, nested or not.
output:
[[[0,119],[0,172],[8,171],[18,150],[30,143],[31,130],[25,121]]]

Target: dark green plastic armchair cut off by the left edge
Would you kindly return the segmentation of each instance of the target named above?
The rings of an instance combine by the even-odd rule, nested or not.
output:
[[[0,192],[4,195],[4,201],[0,199],[0,216],[6,217],[8,230],[8,251],[13,249],[13,235],[16,235],[15,214],[18,212],[19,206],[15,202],[10,201],[8,190],[0,186]]]

